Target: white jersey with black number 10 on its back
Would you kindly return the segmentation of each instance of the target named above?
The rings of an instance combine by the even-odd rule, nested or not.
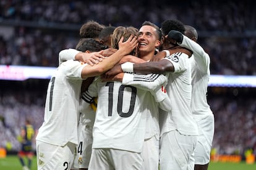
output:
[[[142,89],[139,81],[139,87],[135,87],[117,81],[102,82],[96,78],[83,94],[87,101],[98,96],[93,148],[142,152],[147,118],[143,103],[147,100],[147,91],[153,91],[152,88],[156,89],[166,80],[165,76],[144,76],[142,82],[146,85]]]

